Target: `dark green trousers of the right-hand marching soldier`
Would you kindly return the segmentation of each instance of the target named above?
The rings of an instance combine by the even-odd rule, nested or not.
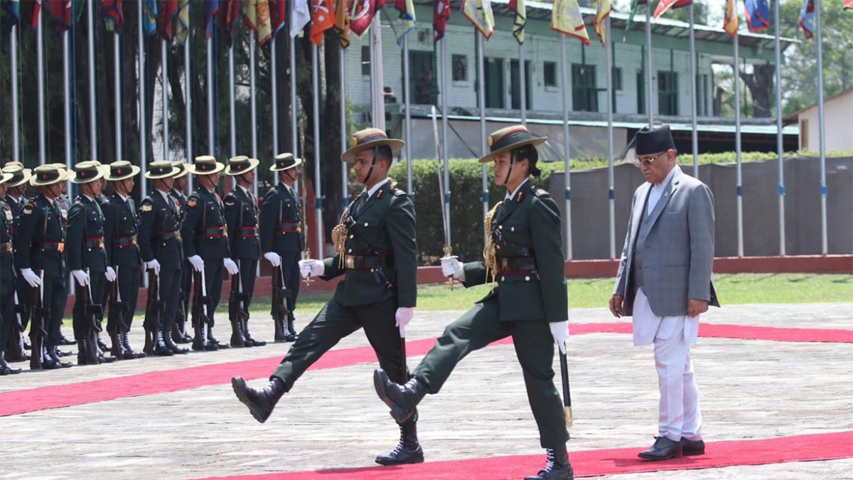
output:
[[[566,413],[554,388],[554,337],[548,322],[501,321],[497,296],[475,304],[444,328],[435,346],[421,360],[413,375],[438,393],[450,372],[463,358],[491,342],[513,337],[515,355],[524,374],[527,399],[539,428],[543,448],[554,448],[569,439]]]

